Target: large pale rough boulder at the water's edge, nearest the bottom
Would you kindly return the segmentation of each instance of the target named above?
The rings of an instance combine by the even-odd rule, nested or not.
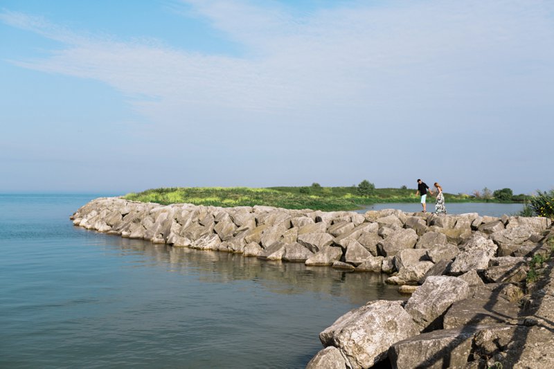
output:
[[[371,301],[341,316],[319,334],[321,343],[339,348],[352,368],[369,368],[386,358],[388,348],[418,334],[400,301]]]

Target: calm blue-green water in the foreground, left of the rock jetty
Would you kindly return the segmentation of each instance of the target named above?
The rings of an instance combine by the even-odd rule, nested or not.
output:
[[[95,197],[0,195],[1,368],[303,368],[348,309],[401,298],[374,273],[73,227]]]

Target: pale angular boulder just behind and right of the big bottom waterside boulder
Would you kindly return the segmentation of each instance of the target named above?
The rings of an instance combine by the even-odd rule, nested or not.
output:
[[[420,330],[432,330],[442,327],[442,316],[453,303],[468,296],[470,286],[460,278],[428,277],[404,309]]]

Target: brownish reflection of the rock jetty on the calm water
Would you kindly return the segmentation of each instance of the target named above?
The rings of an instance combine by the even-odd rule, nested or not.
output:
[[[361,305],[368,300],[399,300],[404,296],[384,283],[381,273],[352,273],[326,267],[307,267],[303,263],[258,260],[218,251],[199,251],[186,247],[152,244],[143,240],[107,237],[107,245],[118,247],[122,255],[140,253],[140,265],[155,264],[168,271],[197,274],[203,282],[226,283],[253,280],[276,294],[302,294],[310,291],[348,298]]]

